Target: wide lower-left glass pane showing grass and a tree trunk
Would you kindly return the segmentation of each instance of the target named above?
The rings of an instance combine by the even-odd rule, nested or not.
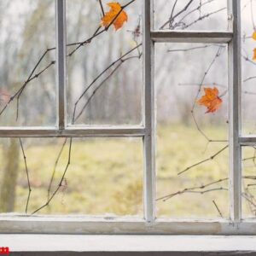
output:
[[[73,138],[70,151],[70,139],[23,138],[26,163],[19,139],[0,142],[0,212],[26,212],[27,171],[27,213],[143,215],[141,139]]]

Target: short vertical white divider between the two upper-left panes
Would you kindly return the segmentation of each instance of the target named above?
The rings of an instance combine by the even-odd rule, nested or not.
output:
[[[66,0],[55,0],[57,126],[66,127]]]

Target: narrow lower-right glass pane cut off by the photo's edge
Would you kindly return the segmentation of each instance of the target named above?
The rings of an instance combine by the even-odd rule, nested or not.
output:
[[[242,148],[242,218],[256,216],[256,147]]]

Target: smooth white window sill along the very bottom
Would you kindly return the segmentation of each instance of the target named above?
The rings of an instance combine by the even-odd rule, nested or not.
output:
[[[10,255],[256,255],[256,236],[0,235]],[[22,254],[20,254],[22,253]],[[64,254],[62,254],[64,253]]]

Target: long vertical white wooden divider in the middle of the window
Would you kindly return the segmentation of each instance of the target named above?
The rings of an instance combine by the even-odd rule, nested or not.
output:
[[[144,178],[143,202],[144,217],[148,222],[155,218],[155,112],[154,112],[154,42],[150,38],[153,26],[153,0],[143,0],[143,83],[144,83],[144,125],[143,138]]]

